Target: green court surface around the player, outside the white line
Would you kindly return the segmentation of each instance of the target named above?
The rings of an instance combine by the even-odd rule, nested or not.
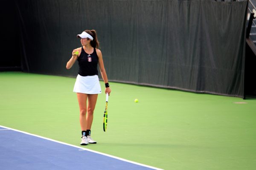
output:
[[[70,77],[0,72],[0,125],[80,146],[74,83]],[[100,94],[92,127],[98,143],[84,147],[166,170],[256,167],[256,99],[110,85],[107,132]]]

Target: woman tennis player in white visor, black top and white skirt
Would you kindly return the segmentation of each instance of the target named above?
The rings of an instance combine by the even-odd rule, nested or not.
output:
[[[99,84],[97,65],[105,82],[105,93],[110,94],[111,89],[108,84],[108,77],[104,68],[102,52],[98,49],[99,42],[95,30],[85,30],[77,35],[81,38],[82,47],[76,48],[72,52],[71,59],[67,62],[67,69],[78,61],[79,71],[76,77],[74,92],[80,108],[80,125],[82,131],[81,145],[96,144],[90,135],[93,123],[93,111],[96,105],[98,94],[101,93]],[[87,102],[88,101],[88,102]]]

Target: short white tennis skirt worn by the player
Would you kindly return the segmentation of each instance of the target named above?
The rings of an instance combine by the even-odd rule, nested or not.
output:
[[[80,76],[78,74],[73,92],[84,94],[100,94],[101,87],[99,84],[98,75]]]

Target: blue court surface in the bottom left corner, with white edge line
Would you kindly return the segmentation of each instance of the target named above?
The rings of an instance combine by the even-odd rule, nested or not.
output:
[[[152,170],[136,162],[0,126],[1,170]]]

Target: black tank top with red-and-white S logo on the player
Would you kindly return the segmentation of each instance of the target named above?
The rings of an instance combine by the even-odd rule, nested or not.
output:
[[[99,62],[98,55],[96,53],[96,49],[93,49],[92,54],[87,54],[82,47],[81,54],[77,58],[79,71],[78,74],[80,76],[94,76],[98,75],[97,65]]]

